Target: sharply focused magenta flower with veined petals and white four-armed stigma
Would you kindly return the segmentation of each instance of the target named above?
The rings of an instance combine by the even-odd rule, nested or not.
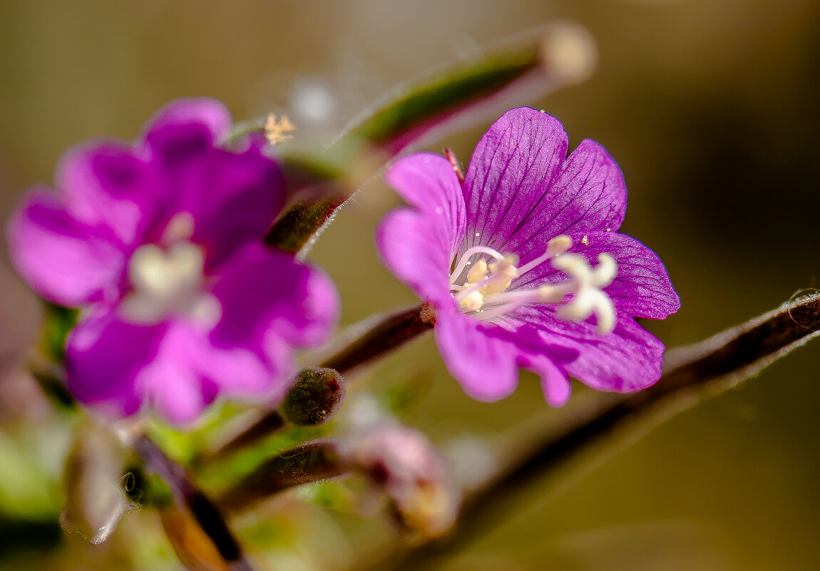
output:
[[[540,375],[550,405],[568,378],[631,392],[660,376],[663,343],[635,317],[680,307],[649,248],[618,233],[623,175],[585,140],[567,156],[554,117],[513,109],[481,138],[465,179],[442,156],[399,159],[387,181],[410,208],[376,242],[385,265],[435,309],[435,341],[464,390],[508,396],[517,369]]]

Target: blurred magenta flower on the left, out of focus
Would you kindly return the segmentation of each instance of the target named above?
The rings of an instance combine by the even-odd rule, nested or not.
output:
[[[66,152],[57,190],[31,190],[13,215],[17,270],[85,308],[66,342],[67,385],[85,404],[187,423],[219,395],[276,400],[292,348],[333,328],[330,279],[260,243],[284,180],[262,142],[220,147],[230,127],[219,102],[172,102],[133,145]]]

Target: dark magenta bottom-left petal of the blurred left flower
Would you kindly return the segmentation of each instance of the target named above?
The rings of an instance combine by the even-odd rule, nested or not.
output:
[[[156,359],[164,325],[127,323],[111,310],[82,319],[66,341],[66,385],[80,402],[113,417],[144,403],[138,378]]]

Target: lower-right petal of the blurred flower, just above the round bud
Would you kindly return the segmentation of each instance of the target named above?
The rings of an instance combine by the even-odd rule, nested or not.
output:
[[[296,347],[315,347],[339,317],[339,294],[324,272],[261,244],[225,264],[212,293],[222,317],[210,338],[224,349],[263,347],[271,332]]]

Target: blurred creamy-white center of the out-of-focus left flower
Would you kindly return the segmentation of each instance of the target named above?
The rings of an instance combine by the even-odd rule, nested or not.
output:
[[[125,319],[134,324],[157,324],[171,315],[191,318],[211,329],[221,317],[216,297],[203,290],[205,253],[189,241],[190,215],[176,215],[161,242],[136,249],[128,262],[132,291],[122,302]]]

